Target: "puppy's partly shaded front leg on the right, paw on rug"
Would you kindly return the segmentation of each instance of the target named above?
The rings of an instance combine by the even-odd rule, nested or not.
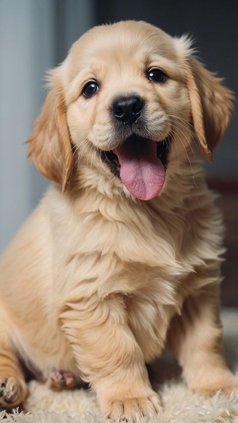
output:
[[[238,379],[223,357],[216,284],[185,300],[181,316],[175,316],[171,323],[168,341],[190,389],[212,396],[219,389],[229,394],[238,388]]]

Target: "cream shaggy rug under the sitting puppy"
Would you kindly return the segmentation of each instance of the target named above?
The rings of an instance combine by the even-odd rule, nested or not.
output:
[[[224,347],[229,367],[238,375],[238,311],[222,312]],[[143,423],[238,423],[238,391],[225,396],[220,392],[210,399],[192,394],[181,380],[174,360],[167,356],[152,370],[159,374],[160,384],[153,384],[162,398],[163,415]],[[176,375],[176,376],[175,376]],[[171,378],[172,377],[172,378]],[[162,381],[162,382],[161,382]],[[53,392],[39,382],[29,383],[30,395],[25,412],[0,413],[4,423],[109,423],[100,415],[95,395],[84,389]]]

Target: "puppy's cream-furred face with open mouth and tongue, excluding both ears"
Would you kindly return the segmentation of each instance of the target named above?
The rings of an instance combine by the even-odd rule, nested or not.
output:
[[[67,66],[73,144],[98,150],[135,197],[157,195],[175,128],[186,133],[190,120],[174,40],[145,23],[94,28],[73,46]]]

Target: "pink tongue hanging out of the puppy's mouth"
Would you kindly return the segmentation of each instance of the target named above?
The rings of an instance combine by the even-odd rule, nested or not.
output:
[[[120,176],[134,197],[150,200],[165,182],[165,169],[156,154],[156,142],[134,137],[117,147],[114,153],[121,165]]]

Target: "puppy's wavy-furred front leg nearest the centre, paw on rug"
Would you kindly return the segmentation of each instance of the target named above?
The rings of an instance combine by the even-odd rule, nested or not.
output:
[[[102,413],[111,418],[137,418],[158,412],[159,397],[152,390],[120,295],[68,302],[60,319]]]

